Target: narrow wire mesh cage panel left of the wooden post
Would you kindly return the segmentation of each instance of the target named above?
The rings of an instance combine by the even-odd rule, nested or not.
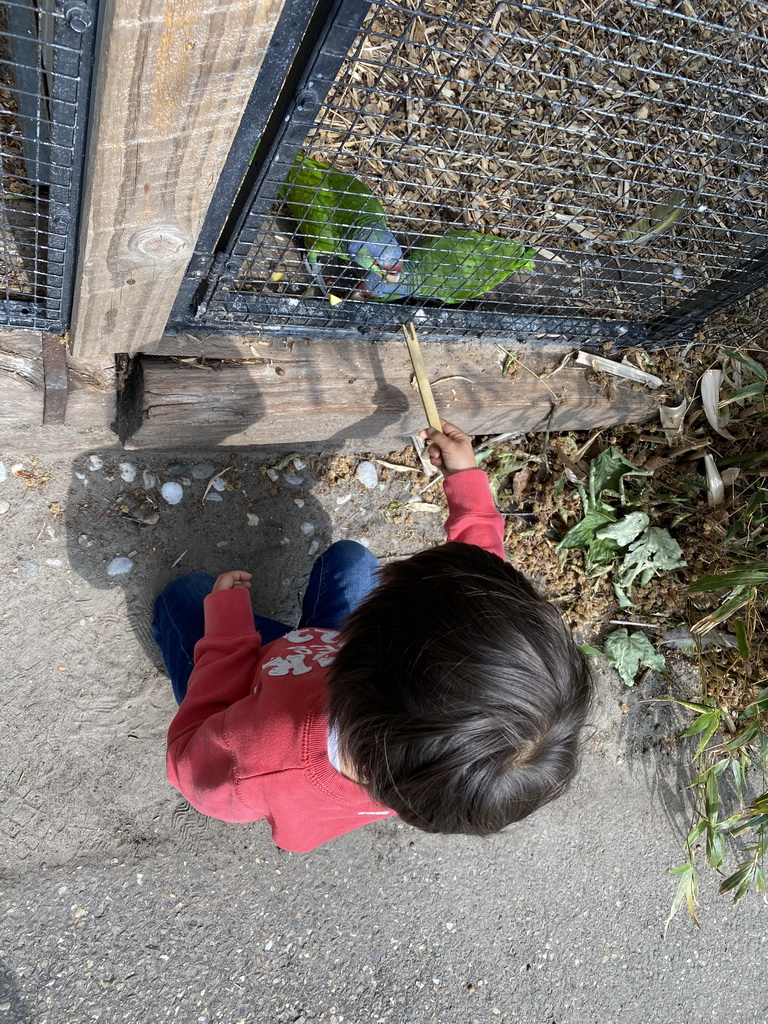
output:
[[[95,0],[0,3],[0,325],[71,305]]]

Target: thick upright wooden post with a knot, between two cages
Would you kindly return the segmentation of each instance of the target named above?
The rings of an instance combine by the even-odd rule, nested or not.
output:
[[[71,330],[80,357],[151,347],[283,0],[105,0]]]

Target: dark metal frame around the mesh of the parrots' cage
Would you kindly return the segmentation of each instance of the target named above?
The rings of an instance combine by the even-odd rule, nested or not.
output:
[[[633,2],[637,7],[652,6],[645,0]],[[768,5],[762,0],[755,2],[761,10],[765,7],[768,19]],[[377,3],[383,6],[384,0]],[[522,10],[537,5],[521,2],[502,6]],[[401,324],[413,319],[422,336],[435,340],[479,337],[650,346],[689,337],[712,312],[768,283],[768,249],[744,252],[735,265],[642,319],[591,315],[577,306],[552,309],[545,300],[508,303],[503,309],[482,302],[414,306],[408,302],[355,301],[335,307],[324,304],[318,313],[316,298],[239,289],[238,275],[279,198],[281,182],[308,134],[317,127],[329,90],[352,52],[371,7],[360,0],[287,3],[171,314],[169,331],[203,328],[268,337],[311,333],[339,339],[373,338],[397,332]],[[272,53],[274,59],[270,59]],[[555,70],[553,77],[556,74]]]

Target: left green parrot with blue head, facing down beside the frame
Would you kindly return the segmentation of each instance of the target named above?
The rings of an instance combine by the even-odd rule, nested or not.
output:
[[[299,154],[281,197],[299,225],[313,272],[319,274],[318,257],[326,255],[397,281],[402,249],[387,227],[384,208],[362,181]]]

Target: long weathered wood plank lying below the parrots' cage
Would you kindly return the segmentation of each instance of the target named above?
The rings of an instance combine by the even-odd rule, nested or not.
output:
[[[119,402],[126,446],[343,441],[365,449],[373,439],[406,437],[424,426],[404,343],[296,341],[257,351],[258,358],[217,369],[194,360],[135,359]],[[618,382],[608,395],[577,367],[541,379],[543,370],[557,366],[542,353],[526,354],[525,369],[510,379],[502,377],[501,358],[493,345],[425,345],[440,414],[471,433],[544,430],[548,424],[586,430],[655,415],[657,401],[644,389]]]

